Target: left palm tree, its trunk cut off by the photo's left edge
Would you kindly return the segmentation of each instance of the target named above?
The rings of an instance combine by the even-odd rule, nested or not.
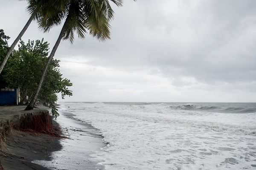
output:
[[[31,16],[29,17],[29,20],[27,21],[23,29],[20,31],[20,34],[17,36],[17,38],[14,40],[9,50],[7,51],[7,54],[0,65],[0,74],[3,71],[3,68],[7,60],[9,59],[10,54],[17,45],[17,42],[26,32],[32,20],[38,20],[38,22],[41,23],[41,26],[43,26],[47,18],[51,16],[52,18],[55,19],[56,23],[60,23],[61,19],[63,18],[63,12],[61,11],[64,11],[64,7],[67,4],[67,0],[28,0],[28,4],[29,5],[27,7],[27,11],[29,11]]]

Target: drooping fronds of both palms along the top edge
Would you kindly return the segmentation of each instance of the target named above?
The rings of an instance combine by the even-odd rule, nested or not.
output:
[[[89,33],[99,40],[110,39],[109,23],[114,14],[110,1],[116,6],[122,6],[122,0],[58,0],[55,3],[49,3],[48,0],[28,1],[28,11],[37,14],[40,28],[47,32],[65,21],[62,38],[71,42],[75,32],[80,38]],[[49,7],[44,10],[47,4]]]

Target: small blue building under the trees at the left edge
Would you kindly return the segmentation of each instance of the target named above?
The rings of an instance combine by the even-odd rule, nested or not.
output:
[[[19,90],[17,88],[0,88],[0,105],[18,105]]]

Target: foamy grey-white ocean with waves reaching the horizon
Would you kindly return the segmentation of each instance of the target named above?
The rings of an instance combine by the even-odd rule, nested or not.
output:
[[[256,103],[63,102],[59,111],[104,137],[90,157],[105,170],[256,169]]]

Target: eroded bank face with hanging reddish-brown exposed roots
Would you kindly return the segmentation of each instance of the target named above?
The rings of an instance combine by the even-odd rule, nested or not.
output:
[[[25,164],[26,166],[35,170],[36,168],[33,166],[33,164],[26,162],[24,157],[15,156],[9,152],[9,150],[5,147],[6,136],[12,134],[13,129],[15,129],[17,130],[17,133],[19,133],[19,131],[20,133],[22,133],[21,131],[26,131],[32,133],[33,135],[45,133],[50,136],[65,138],[62,134],[61,128],[56,122],[53,121],[52,116],[49,115],[48,111],[25,113],[3,122],[0,127],[0,158],[18,159],[22,164]],[[13,141],[16,142],[14,139]],[[0,170],[5,170],[1,161]]]

